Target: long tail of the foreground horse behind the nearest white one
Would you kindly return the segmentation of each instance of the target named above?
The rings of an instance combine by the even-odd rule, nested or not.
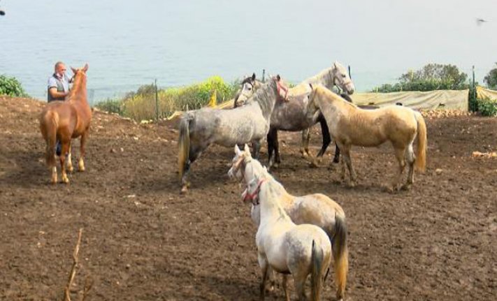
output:
[[[335,235],[331,240],[333,250],[333,261],[335,268],[336,298],[343,299],[345,286],[347,285],[347,272],[349,270],[349,250],[347,249],[347,225],[345,217],[335,217]]]

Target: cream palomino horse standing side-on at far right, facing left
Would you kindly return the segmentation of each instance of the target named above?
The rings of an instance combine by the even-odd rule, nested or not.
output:
[[[320,110],[324,115],[333,140],[343,152],[342,179],[345,179],[347,163],[350,186],[356,184],[356,173],[350,159],[352,145],[375,147],[389,141],[398,161],[398,172],[394,176],[391,191],[401,187],[399,185],[406,160],[409,166],[408,180],[402,188],[409,189],[412,186],[414,166],[420,171],[426,168],[426,124],[419,112],[399,105],[363,110],[321,85],[310,85],[310,88],[308,114],[315,115]],[[412,145],[416,138],[415,155]]]

